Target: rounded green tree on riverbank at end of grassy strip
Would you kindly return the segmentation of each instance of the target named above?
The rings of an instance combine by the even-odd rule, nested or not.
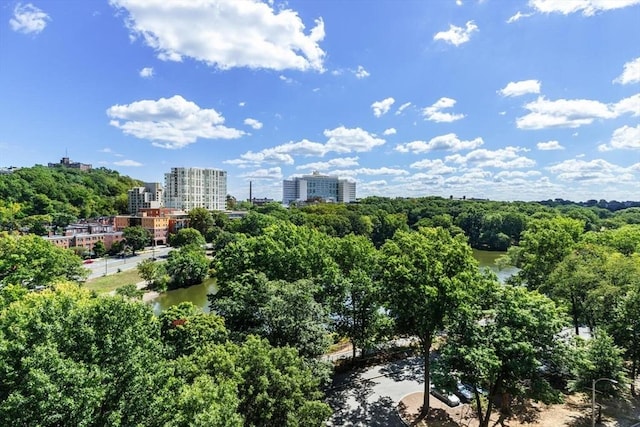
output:
[[[166,269],[171,277],[171,287],[196,285],[207,278],[209,260],[201,247],[184,246],[169,252]]]

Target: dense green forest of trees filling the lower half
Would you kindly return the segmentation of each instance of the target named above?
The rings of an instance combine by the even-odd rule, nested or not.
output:
[[[27,181],[56,173],[44,169],[25,171]],[[13,224],[41,212],[16,196],[42,195],[33,191],[3,195],[3,221],[13,205],[24,214]],[[60,212],[73,206],[47,199]],[[138,270],[157,290],[215,278],[212,314],[185,304],[160,316],[135,293],[87,292],[79,257],[9,228],[0,234],[0,422],[319,426],[331,414],[322,391],[333,366],[321,362],[330,345],[351,343],[355,359],[398,336],[417,338],[435,384],[451,386],[455,372],[474,386],[482,426],[496,401],[501,411],[556,402],[597,378],[618,381],[601,384],[605,394],[635,394],[640,208],[604,206],[369,197],[247,206],[239,220],[197,208],[171,236],[168,259]],[[499,283],[472,247],[504,251],[501,263],[518,272]]]

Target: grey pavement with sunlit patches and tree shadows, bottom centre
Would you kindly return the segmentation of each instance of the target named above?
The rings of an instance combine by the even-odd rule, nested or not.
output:
[[[328,393],[329,426],[396,427],[396,405],[424,388],[421,357],[410,357],[339,376]]]

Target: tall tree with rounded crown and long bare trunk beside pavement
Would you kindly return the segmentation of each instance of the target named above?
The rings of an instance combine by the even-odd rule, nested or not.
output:
[[[420,340],[424,358],[423,413],[429,411],[430,351],[436,333],[479,276],[464,236],[441,228],[399,231],[382,247],[383,293],[401,333]]]

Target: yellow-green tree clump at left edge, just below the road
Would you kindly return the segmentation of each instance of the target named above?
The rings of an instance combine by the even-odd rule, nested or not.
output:
[[[82,260],[39,236],[0,233],[0,287],[47,286],[57,280],[80,281],[88,275]]]

